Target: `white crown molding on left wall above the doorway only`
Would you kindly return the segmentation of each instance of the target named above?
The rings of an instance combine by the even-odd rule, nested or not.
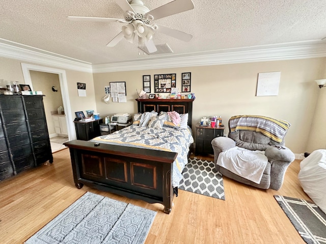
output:
[[[4,39],[0,41],[4,41]],[[26,46],[26,48],[24,48],[24,45],[21,46],[22,47],[17,47],[0,42],[0,56],[62,69],[76,70],[87,73],[93,72],[91,63],[82,62],[77,59],[40,49],[29,50],[28,46]]]

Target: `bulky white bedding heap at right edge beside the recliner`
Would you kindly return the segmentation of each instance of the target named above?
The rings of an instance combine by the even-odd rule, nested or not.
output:
[[[300,163],[298,178],[314,203],[326,214],[326,150],[315,150]]]

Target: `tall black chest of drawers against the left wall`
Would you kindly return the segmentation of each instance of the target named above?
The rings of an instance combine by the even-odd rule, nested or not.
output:
[[[53,162],[43,96],[0,96],[0,180]]]

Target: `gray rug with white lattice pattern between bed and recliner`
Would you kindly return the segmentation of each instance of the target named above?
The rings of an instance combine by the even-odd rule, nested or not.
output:
[[[211,161],[188,159],[178,189],[225,200],[222,174]]]

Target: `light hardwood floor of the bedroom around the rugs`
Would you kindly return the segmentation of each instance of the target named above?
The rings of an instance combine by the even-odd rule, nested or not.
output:
[[[157,211],[145,243],[305,243],[273,197],[310,200],[297,179],[298,160],[288,168],[280,191],[259,190],[224,177],[225,201],[180,190],[167,215],[158,203],[86,186],[78,190],[69,150],[53,158],[53,164],[0,181],[0,243],[23,243],[87,191]]]

